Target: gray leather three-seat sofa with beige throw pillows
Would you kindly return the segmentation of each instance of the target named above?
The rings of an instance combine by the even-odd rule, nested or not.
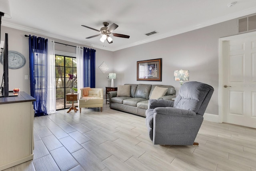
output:
[[[118,91],[108,92],[109,106],[111,109],[146,117],[149,99],[172,100],[175,94],[172,85],[124,84],[118,86]]]

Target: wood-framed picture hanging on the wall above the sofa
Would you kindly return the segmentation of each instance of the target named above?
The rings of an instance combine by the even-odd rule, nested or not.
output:
[[[137,61],[137,81],[162,81],[162,58]]]

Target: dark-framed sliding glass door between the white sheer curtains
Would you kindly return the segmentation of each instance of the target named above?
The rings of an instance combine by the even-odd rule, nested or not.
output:
[[[77,87],[76,78],[76,58],[69,56],[55,55],[56,69],[56,109],[69,108],[72,103],[66,101],[66,94],[72,89],[72,82],[68,79],[68,74],[74,75],[73,87]],[[74,101],[77,106],[77,101]]]

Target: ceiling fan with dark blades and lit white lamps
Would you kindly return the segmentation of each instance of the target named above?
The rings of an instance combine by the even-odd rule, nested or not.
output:
[[[83,27],[90,28],[92,30],[100,32],[100,34],[97,34],[97,35],[94,35],[94,36],[90,36],[90,37],[88,37],[86,39],[90,39],[90,38],[94,38],[94,37],[97,37],[97,36],[101,36],[100,37],[100,41],[102,43],[104,43],[105,40],[107,40],[108,43],[113,43],[113,40],[112,40],[112,38],[110,36],[116,36],[116,37],[120,37],[120,38],[130,38],[130,36],[127,36],[127,35],[124,35],[124,34],[112,33],[118,27],[117,24],[113,23],[109,27],[107,27],[108,26],[108,22],[103,22],[102,24],[103,24],[104,27],[100,28],[100,30],[97,30],[97,29],[94,29],[94,28],[91,28],[91,27],[88,27],[88,26],[81,25]]]

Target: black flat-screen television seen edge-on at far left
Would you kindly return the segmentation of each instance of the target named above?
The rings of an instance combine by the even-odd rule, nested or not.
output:
[[[5,34],[4,38],[4,87],[2,91],[3,97],[9,96],[9,78],[8,78],[8,33]]]

